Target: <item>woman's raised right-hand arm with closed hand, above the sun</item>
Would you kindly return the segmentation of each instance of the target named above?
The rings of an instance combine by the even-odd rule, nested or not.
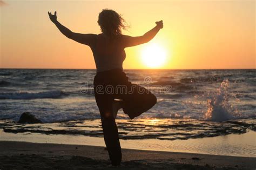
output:
[[[124,47],[136,46],[149,42],[154,36],[157,35],[158,31],[164,27],[163,21],[156,22],[156,26],[150,31],[146,32],[143,36],[131,37],[123,36]]]

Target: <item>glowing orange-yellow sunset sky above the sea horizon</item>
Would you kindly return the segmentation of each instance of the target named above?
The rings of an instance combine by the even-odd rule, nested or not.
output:
[[[166,54],[157,69],[256,69],[255,1],[3,2],[1,68],[95,69],[90,47],[62,35],[48,11],[73,32],[98,34],[98,13],[109,8],[129,23],[124,35],[140,36],[164,22],[149,44],[125,49],[124,69],[150,69],[142,51],[152,44]]]

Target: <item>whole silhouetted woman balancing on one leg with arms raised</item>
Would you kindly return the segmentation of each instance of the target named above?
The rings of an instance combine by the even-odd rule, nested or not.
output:
[[[48,14],[63,35],[90,46],[93,52],[97,68],[93,85],[102,120],[104,140],[111,164],[120,165],[122,153],[115,121],[118,110],[123,108],[124,113],[133,119],[157,102],[157,98],[149,90],[132,84],[126,77],[123,72],[124,49],[149,42],[163,28],[163,21],[156,22],[157,25],[143,36],[125,36],[121,33],[121,30],[126,28],[124,19],[116,11],[104,9],[98,17],[102,33],[96,35],[72,32],[57,21],[56,11],[54,15],[51,12]]]

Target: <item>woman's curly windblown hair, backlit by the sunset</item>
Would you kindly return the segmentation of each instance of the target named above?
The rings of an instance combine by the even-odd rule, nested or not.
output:
[[[102,32],[110,37],[122,35],[122,29],[128,27],[122,16],[111,9],[103,9],[99,13],[98,24]]]

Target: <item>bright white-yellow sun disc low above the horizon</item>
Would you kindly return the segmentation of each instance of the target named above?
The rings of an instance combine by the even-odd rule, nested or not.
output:
[[[166,51],[158,44],[149,44],[141,52],[142,62],[147,67],[157,68],[166,63]]]

